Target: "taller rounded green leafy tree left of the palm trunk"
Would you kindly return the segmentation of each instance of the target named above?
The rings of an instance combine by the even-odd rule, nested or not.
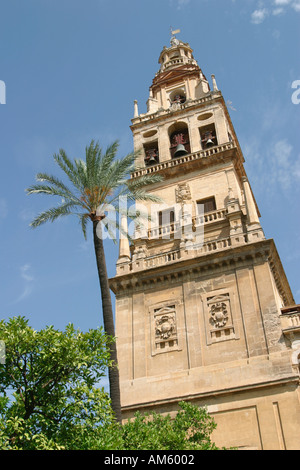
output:
[[[97,387],[110,365],[102,328],[69,324],[35,331],[24,317],[0,322],[0,448],[88,446],[97,426],[112,422],[108,395]]]

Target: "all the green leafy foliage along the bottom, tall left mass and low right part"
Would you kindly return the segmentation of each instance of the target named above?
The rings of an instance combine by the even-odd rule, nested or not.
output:
[[[24,317],[0,322],[1,450],[215,450],[216,424],[205,408],[180,403],[175,414],[142,415],[121,425],[99,381],[110,365],[101,328],[69,324],[35,331]]]

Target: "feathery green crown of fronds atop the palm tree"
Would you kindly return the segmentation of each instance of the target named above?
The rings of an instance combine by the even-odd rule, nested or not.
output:
[[[149,187],[158,183],[162,177],[157,174],[144,175],[140,178],[130,179],[131,172],[136,167],[137,153],[132,152],[124,158],[117,158],[119,141],[113,142],[105,152],[98,142],[91,141],[85,149],[85,161],[82,159],[70,160],[63,149],[54,154],[54,160],[72,184],[69,188],[61,179],[47,173],[38,173],[37,184],[27,188],[27,194],[46,194],[63,199],[57,207],[48,209],[39,214],[30,224],[32,227],[69,214],[76,215],[86,238],[87,222],[95,211],[107,204],[112,204],[116,212],[122,213],[120,197],[126,196],[129,201],[161,203],[159,196],[151,194]],[[99,209],[98,209],[99,210]],[[148,219],[148,214],[131,212],[126,209],[126,216],[131,220]],[[125,212],[126,212],[125,211]],[[146,211],[147,212],[147,211]],[[108,220],[105,224],[108,224]],[[109,225],[109,224],[108,224]],[[118,223],[116,223],[116,227]],[[113,223],[108,229],[115,230]],[[122,230],[122,228],[119,228]]]

